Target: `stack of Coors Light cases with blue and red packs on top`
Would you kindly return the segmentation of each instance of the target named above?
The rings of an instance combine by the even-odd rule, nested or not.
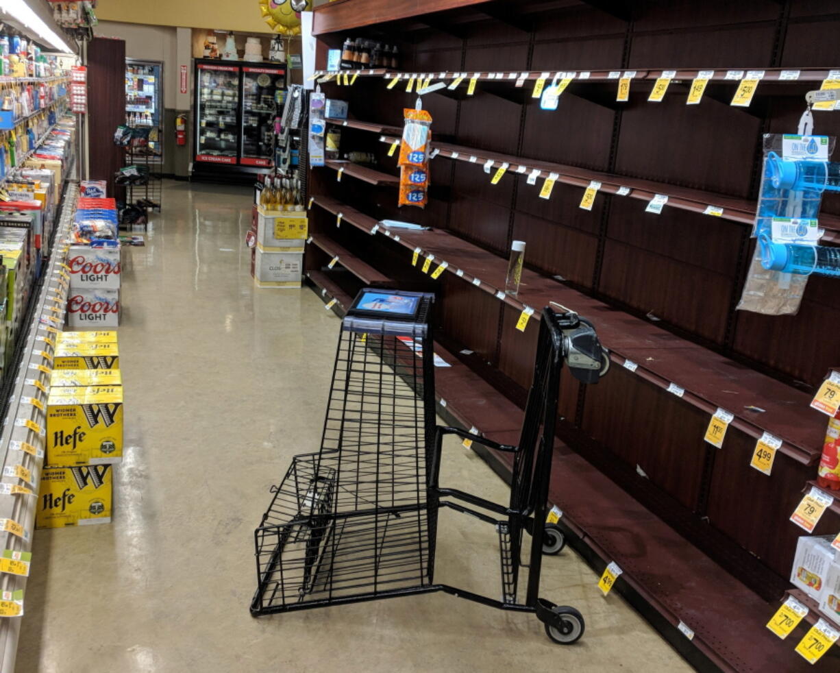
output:
[[[122,263],[113,198],[79,197],[73,240],[67,255],[68,324],[71,329],[116,328]]]

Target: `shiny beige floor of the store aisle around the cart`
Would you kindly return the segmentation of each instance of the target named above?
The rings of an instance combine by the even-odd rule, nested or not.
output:
[[[690,670],[570,550],[545,560],[541,593],[584,614],[571,647],[444,595],[251,618],[253,531],[291,455],[318,448],[339,320],[307,289],[254,289],[248,189],[168,182],[163,202],[126,251],[113,523],[35,534],[18,671]],[[448,449],[447,481],[507,499]],[[495,532],[441,518],[438,578],[499,593]]]

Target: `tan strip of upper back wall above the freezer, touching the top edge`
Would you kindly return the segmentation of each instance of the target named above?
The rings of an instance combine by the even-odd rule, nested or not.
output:
[[[239,30],[266,33],[258,0],[99,0],[97,17],[102,21]]]

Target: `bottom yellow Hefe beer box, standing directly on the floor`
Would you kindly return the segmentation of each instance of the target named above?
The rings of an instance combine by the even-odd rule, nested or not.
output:
[[[35,528],[111,523],[113,465],[45,467]]]

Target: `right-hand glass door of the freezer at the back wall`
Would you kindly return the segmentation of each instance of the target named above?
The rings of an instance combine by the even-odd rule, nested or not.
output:
[[[282,113],[285,92],[283,68],[242,66],[241,166],[274,165],[274,124]]]

